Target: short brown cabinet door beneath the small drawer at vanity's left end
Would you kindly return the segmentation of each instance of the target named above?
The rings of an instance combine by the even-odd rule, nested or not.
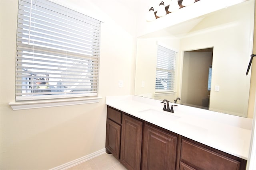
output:
[[[112,153],[117,159],[120,153],[120,133],[121,126],[107,119],[106,152]]]

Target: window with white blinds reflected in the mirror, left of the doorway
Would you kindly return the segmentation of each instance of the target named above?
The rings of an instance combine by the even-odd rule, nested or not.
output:
[[[156,61],[156,92],[174,91],[176,52],[158,45]]]

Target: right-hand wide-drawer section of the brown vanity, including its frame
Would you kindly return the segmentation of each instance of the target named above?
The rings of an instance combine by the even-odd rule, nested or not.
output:
[[[184,137],[183,137],[184,138]],[[180,170],[245,170],[246,160],[208,147],[191,139],[181,143]],[[187,167],[186,167],[186,166]],[[189,168],[188,168],[189,167]]]

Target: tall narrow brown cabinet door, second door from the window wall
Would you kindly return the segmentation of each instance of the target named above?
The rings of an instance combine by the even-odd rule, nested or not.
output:
[[[122,115],[120,162],[128,170],[140,169],[142,122]]]

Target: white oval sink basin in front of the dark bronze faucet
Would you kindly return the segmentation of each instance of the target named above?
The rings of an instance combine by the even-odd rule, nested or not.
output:
[[[139,113],[147,114],[151,117],[161,118],[161,119],[179,119],[180,117],[174,115],[175,113],[170,113],[168,111],[158,111],[155,109],[147,109],[139,111]]]

